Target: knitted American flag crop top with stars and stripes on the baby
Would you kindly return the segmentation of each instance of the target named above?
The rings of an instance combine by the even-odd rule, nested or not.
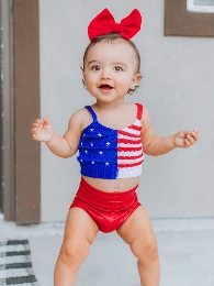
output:
[[[115,179],[137,177],[144,161],[142,144],[143,106],[136,103],[136,121],[115,130],[99,123],[90,106],[86,108],[93,121],[81,134],[79,156],[81,174],[87,177]]]

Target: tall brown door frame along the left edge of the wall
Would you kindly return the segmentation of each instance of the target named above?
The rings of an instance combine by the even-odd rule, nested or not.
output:
[[[18,224],[41,221],[38,0],[1,0],[3,9],[3,215]]]

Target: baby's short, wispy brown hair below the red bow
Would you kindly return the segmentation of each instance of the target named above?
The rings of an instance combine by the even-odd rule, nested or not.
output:
[[[85,51],[85,55],[83,55],[83,69],[85,69],[85,62],[86,62],[87,55],[88,55],[88,53],[89,53],[89,51],[92,46],[94,46],[95,44],[101,43],[101,42],[113,43],[113,42],[116,42],[116,41],[121,41],[122,43],[128,44],[133,47],[134,53],[136,55],[136,59],[137,59],[136,74],[140,74],[140,72],[139,72],[139,69],[140,69],[140,56],[139,56],[139,52],[138,52],[137,47],[135,46],[135,44],[132,41],[125,40],[123,36],[121,36],[117,33],[109,33],[109,34],[100,35],[100,36],[94,37],[90,42],[90,44],[87,46],[87,48]],[[85,81],[83,81],[83,84],[85,84]],[[128,94],[134,92],[136,90],[136,87],[138,87],[138,86],[135,86],[134,89],[129,88],[127,92]]]

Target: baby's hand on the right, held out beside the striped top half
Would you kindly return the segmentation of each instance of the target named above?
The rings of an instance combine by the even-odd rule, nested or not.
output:
[[[199,140],[198,131],[180,131],[173,138],[173,144],[176,147],[187,148],[190,147]]]

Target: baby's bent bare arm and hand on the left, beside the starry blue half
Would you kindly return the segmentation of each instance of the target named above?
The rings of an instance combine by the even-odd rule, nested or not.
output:
[[[36,119],[32,125],[32,138],[45,142],[47,147],[59,157],[70,157],[78,148],[81,135],[81,112],[76,112],[69,120],[68,130],[59,136],[48,119]]]

